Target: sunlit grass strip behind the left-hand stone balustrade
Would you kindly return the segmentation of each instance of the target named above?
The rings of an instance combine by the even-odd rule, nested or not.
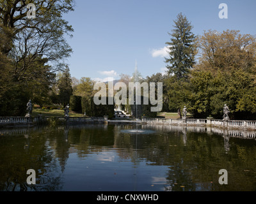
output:
[[[49,110],[49,109],[42,109],[42,108],[35,108],[33,109],[32,116],[38,116],[38,114],[42,114],[44,116],[52,116],[52,117],[64,117],[64,110]],[[69,112],[70,117],[83,117],[84,115],[82,113],[76,113],[72,112],[72,110]]]

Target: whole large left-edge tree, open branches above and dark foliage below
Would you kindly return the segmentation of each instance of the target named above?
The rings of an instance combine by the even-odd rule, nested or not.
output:
[[[29,20],[27,1],[0,0],[0,112],[3,116],[25,115],[29,99],[40,106],[51,103],[49,91],[55,72],[65,67],[63,61],[72,51],[64,36],[71,36],[73,29],[63,19],[63,13],[73,10],[73,1],[33,3],[36,18]],[[60,92],[61,101],[69,101],[67,91]]]

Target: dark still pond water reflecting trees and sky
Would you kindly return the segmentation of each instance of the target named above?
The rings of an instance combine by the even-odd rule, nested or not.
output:
[[[256,191],[255,138],[229,135],[123,124],[0,129],[0,191]]]

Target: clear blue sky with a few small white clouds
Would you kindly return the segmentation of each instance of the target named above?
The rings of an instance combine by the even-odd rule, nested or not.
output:
[[[72,77],[106,81],[132,75],[135,62],[143,77],[163,72],[164,47],[173,20],[182,12],[201,35],[209,29],[236,29],[256,34],[255,0],[75,0],[64,15],[74,28],[67,38],[73,54],[67,59]],[[226,3],[228,18],[219,18]]]

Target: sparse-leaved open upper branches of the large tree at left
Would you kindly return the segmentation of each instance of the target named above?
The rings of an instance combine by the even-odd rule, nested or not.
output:
[[[72,51],[68,46],[65,34],[70,35],[73,31],[68,25],[67,20],[63,19],[63,13],[74,10],[74,1],[56,0],[33,1],[36,6],[36,18],[29,20],[27,14],[28,2],[23,0],[17,1],[0,1],[0,11],[3,13],[0,18],[0,25],[5,33],[8,32],[8,41],[10,45],[22,45],[20,49],[12,47],[3,48],[4,54],[19,57],[17,66],[24,64],[25,59],[29,59],[26,64],[28,68],[36,61],[38,55],[45,55],[49,61],[63,63],[63,59],[70,55]],[[26,69],[25,68],[25,69]],[[24,69],[24,67],[23,67]]]

